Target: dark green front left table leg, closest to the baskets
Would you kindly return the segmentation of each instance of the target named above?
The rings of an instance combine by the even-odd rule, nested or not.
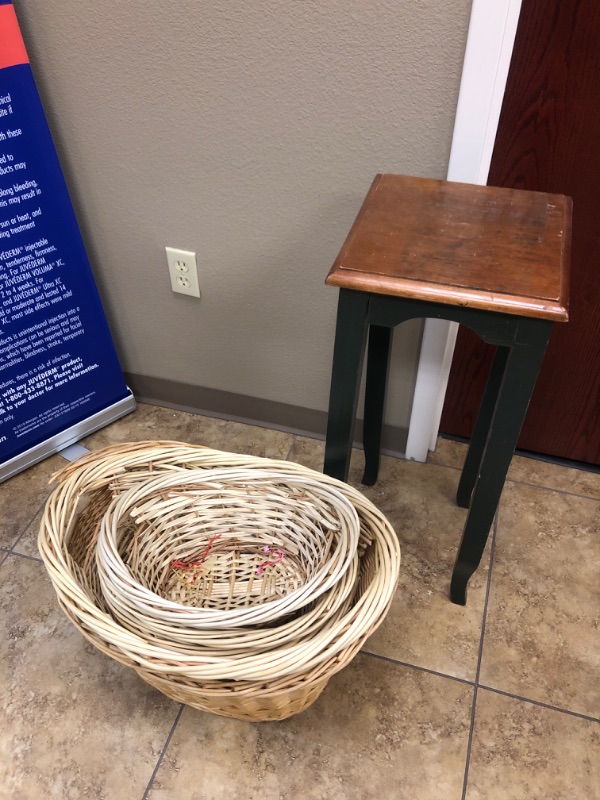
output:
[[[350,467],[368,308],[368,294],[340,289],[323,471],[342,481]]]

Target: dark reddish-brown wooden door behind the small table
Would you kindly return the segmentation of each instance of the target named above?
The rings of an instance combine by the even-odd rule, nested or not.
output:
[[[488,183],[573,198],[570,321],[519,447],[600,463],[600,0],[523,0]],[[490,353],[461,328],[441,430],[470,436]]]

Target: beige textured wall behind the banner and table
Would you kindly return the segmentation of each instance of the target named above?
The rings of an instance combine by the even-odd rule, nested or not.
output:
[[[325,275],[375,173],[445,176],[470,0],[15,6],[124,369],[325,409]]]

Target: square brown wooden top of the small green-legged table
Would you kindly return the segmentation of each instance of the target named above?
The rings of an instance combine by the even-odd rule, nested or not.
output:
[[[326,283],[568,319],[571,200],[378,175]]]

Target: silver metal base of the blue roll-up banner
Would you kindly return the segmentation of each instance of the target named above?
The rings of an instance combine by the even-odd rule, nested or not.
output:
[[[84,436],[89,436],[91,433],[100,430],[100,428],[110,425],[111,422],[120,417],[135,411],[135,405],[135,398],[130,391],[127,397],[112,406],[108,406],[97,414],[81,420],[81,422],[55,434],[50,439],[46,439],[45,442],[40,442],[35,447],[31,447],[24,453],[4,462],[4,464],[0,464],[0,483],[37,464],[38,461],[58,453],[59,450],[63,450]]]

